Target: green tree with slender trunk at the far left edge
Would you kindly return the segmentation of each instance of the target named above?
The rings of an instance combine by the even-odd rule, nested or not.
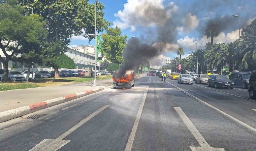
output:
[[[0,55],[0,61],[4,66],[4,81],[9,80],[9,60],[20,53],[20,48],[36,45],[42,36],[39,35],[43,32],[40,18],[23,15],[23,11],[23,7],[15,0],[0,3],[0,48],[5,55],[5,59]]]

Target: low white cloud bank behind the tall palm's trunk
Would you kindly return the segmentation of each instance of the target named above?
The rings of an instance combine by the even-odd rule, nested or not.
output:
[[[230,33],[227,33],[225,35],[225,33],[220,33],[218,37],[214,38],[214,43],[223,43],[226,42],[230,43],[233,42],[235,40],[237,40],[239,37],[239,30],[235,30],[232,31]],[[193,44],[193,42],[197,43],[197,49],[202,49],[205,46],[205,43],[207,42],[211,42],[211,38],[206,38],[206,36],[200,38],[200,39],[196,39],[194,37],[189,37],[189,36],[185,36],[184,38],[181,38],[179,40],[177,40],[177,43],[184,48],[189,48],[189,49],[196,49],[196,45]]]

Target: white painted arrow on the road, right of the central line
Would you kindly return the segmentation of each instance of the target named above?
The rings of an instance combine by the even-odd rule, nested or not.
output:
[[[174,107],[174,109],[177,111],[177,113],[180,115],[183,122],[188,127],[189,131],[193,134],[197,142],[200,144],[201,147],[192,147],[190,146],[192,151],[197,150],[207,150],[207,151],[217,151],[221,150],[224,151],[223,148],[212,148],[203,138],[203,136],[199,133],[199,131],[196,129],[195,125],[190,121],[190,119],[187,117],[187,115],[183,112],[183,110],[180,107]]]

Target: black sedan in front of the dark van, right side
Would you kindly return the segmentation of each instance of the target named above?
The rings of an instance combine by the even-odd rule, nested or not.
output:
[[[224,75],[212,75],[207,82],[208,87],[234,89],[234,82]]]

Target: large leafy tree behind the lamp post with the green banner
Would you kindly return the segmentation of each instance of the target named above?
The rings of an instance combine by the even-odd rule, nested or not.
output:
[[[42,16],[46,22],[45,29],[49,31],[47,41],[51,49],[45,51],[49,53],[47,64],[52,65],[55,69],[55,75],[58,77],[58,68],[54,64],[56,55],[67,51],[67,45],[70,43],[72,36],[84,34],[89,38],[88,34],[95,33],[95,4],[90,4],[88,0],[51,0],[51,1],[27,1],[20,0],[24,7],[34,8],[34,13]],[[97,3],[97,32],[102,32],[111,25],[103,16],[104,5]],[[53,49],[56,48],[56,49]]]

